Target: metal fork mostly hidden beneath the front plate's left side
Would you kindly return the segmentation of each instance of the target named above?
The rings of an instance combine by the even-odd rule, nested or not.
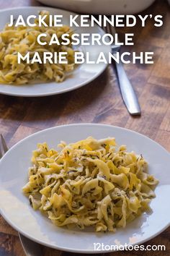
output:
[[[3,157],[3,155],[8,151],[8,147],[6,145],[6,142],[4,140],[4,137],[1,135],[0,140],[0,159]],[[2,150],[4,150],[4,153]],[[33,242],[32,240],[28,239],[27,237],[23,236],[22,234],[18,233],[20,242],[22,244],[22,247],[24,249],[24,253],[27,256],[40,256],[42,255],[42,247],[40,244],[37,244],[36,242]]]

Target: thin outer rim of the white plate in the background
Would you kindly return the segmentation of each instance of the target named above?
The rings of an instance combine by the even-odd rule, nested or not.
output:
[[[45,8],[47,8],[47,9],[55,9],[55,10],[59,10],[59,11],[61,11],[61,12],[67,12],[67,13],[69,13],[69,14],[79,14],[79,13],[76,13],[76,12],[70,12],[70,11],[68,11],[68,10],[65,10],[65,9],[61,9],[61,8],[56,8],[56,7],[47,7],[47,6],[32,6],[32,7],[19,7],[19,10],[23,10],[23,9],[45,9]],[[1,13],[3,13],[3,12],[9,12],[9,11],[12,11],[12,10],[17,10],[18,9],[18,7],[12,7],[12,8],[5,8],[5,9],[1,9],[0,10],[0,14]],[[81,14],[79,14],[79,15],[81,15]],[[102,30],[102,27],[99,27],[98,25],[97,25],[97,27],[99,28],[99,30]],[[104,30],[102,30],[102,31],[104,31]],[[104,32],[105,33],[105,32]],[[111,46],[107,46],[107,48],[109,49],[109,51],[112,51],[111,50]],[[14,97],[24,97],[24,98],[29,98],[29,97],[31,97],[31,98],[33,98],[33,97],[35,97],[35,98],[37,98],[37,97],[47,97],[47,96],[51,96],[51,95],[59,95],[59,94],[62,94],[62,93],[68,93],[68,92],[70,92],[70,91],[72,91],[72,90],[76,90],[76,89],[79,89],[79,88],[81,88],[81,87],[83,87],[84,85],[89,85],[89,83],[90,82],[92,82],[92,81],[94,81],[95,79],[97,79],[97,77],[99,77],[103,72],[104,72],[104,70],[105,69],[107,69],[107,67],[109,66],[109,64],[104,64],[104,63],[102,63],[102,69],[99,71],[99,72],[97,72],[96,74],[94,74],[94,76],[93,77],[91,77],[91,79],[89,79],[88,81],[84,81],[84,82],[81,82],[81,84],[78,84],[78,85],[76,85],[76,86],[74,86],[73,88],[67,88],[67,89],[64,89],[64,90],[62,90],[61,92],[50,92],[50,93],[38,93],[38,94],[32,94],[32,93],[30,93],[30,94],[25,94],[25,93],[11,93],[11,92],[1,92],[1,85],[4,85],[4,84],[1,84],[0,83],[0,94],[1,95],[9,95],[9,96],[14,96]],[[69,78],[68,78],[69,79]],[[41,84],[41,83],[40,83]],[[39,85],[40,85],[39,84]],[[59,83],[60,84],[60,83]],[[33,84],[33,85],[35,85],[35,84]],[[58,85],[58,83],[56,83],[56,85]],[[6,85],[6,86],[8,86],[8,85]],[[15,86],[15,85],[14,85]]]

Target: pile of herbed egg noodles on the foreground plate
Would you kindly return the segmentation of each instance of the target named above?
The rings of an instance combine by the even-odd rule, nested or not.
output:
[[[86,140],[33,151],[23,192],[35,210],[57,226],[93,226],[116,231],[149,210],[158,180],[148,174],[142,155],[116,147],[115,138]]]

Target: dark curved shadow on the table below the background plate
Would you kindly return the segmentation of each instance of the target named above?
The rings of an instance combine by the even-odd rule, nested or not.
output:
[[[89,85],[60,95],[40,98],[0,95],[0,116],[9,120],[36,121],[56,119],[63,114],[80,112],[87,106],[94,105],[96,101],[100,101],[99,98],[106,90],[109,80],[107,69]]]

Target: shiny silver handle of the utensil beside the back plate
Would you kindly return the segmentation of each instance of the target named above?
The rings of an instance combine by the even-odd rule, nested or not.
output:
[[[117,69],[117,77],[119,80],[120,91],[122,93],[122,99],[125,103],[126,108],[128,109],[131,115],[140,115],[140,105],[138,102],[137,95],[133,90],[133,86],[128,80],[127,74],[125,73],[125,69],[122,65],[122,62],[116,62],[116,69]]]

